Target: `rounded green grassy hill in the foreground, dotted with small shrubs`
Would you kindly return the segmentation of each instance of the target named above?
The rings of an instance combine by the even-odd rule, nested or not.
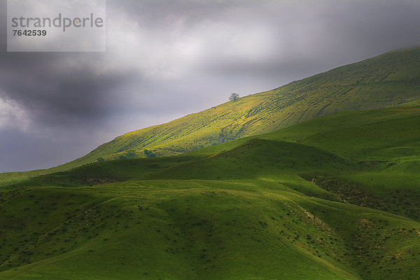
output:
[[[18,188],[1,200],[7,232],[1,279],[407,279],[419,273],[419,223],[310,198],[281,183],[132,180]],[[364,223],[370,227],[358,231]]]

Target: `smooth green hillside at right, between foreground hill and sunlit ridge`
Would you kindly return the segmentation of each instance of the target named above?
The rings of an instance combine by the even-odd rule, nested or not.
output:
[[[353,162],[358,168],[347,168],[342,174],[332,169],[322,174],[321,165],[318,172],[297,173],[346,202],[420,221],[419,124],[419,107],[401,107],[337,113],[256,137],[320,148]],[[253,138],[211,146],[190,155],[224,153]]]

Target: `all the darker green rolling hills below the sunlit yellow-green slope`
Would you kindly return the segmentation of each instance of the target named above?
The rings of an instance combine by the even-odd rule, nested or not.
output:
[[[418,279],[419,132],[345,112],[3,187],[0,279]]]

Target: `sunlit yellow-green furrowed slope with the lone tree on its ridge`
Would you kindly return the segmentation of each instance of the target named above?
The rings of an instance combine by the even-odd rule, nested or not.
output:
[[[419,104],[420,48],[394,50],[117,137],[69,165],[177,155],[341,111]],[[149,152],[145,151],[147,149]]]

